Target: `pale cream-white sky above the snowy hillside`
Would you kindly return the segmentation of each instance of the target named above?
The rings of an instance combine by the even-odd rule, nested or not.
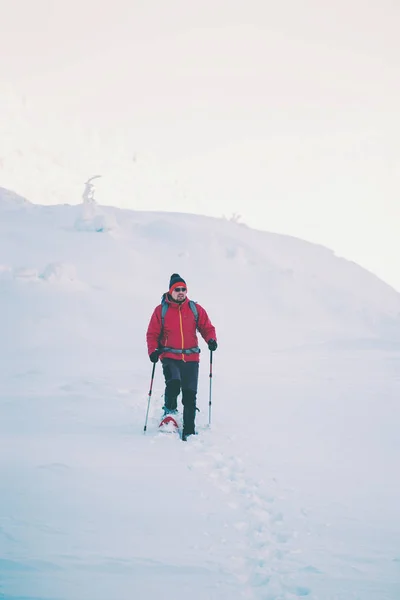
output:
[[[397,0],[0,9],[3,98],[23,98],[30,135],[52,133],[79,178],[103,175],[101,201],[238,213],[328,246],[400,291]]]

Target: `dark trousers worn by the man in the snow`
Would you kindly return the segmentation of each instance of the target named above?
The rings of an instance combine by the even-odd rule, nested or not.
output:
[[[190,435],[194,433],[196,418],[199,363],[164,358],[162,367],[165,378],[164,406],[169,410],[175,410],[179,392],[182,390],[183,431],[186,435]]]

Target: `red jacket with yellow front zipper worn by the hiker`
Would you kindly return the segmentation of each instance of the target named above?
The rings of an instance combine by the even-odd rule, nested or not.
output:
[[[147,348],[149,355],[159,347],[169,347],[176,350],[187,350],[198,346],[196,335],[196,319],[192,309],[189,306],[188,298],[178,304],[168,298],[165,294],[165,300],[168,302],[168,310],[164,317],[164,329],[161,335],[161,304],[159,304],[151,316],[147,329]],[[206,311],[200,304],[196,303],[198,312],[197,329],[206,342],[216,340],[215,328],[212,325]],[[163,352],[160,358],[174,358],[175,360],[199,361],[200,355],[194,354],[175,354],[174,352]]]

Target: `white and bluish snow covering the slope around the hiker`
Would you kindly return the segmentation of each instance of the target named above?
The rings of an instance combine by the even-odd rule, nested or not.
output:
[[[158,432],[160,365],[143,433],[173,272],[219,342],[186,443]],[[400,597],[400,295],[358,265],[0,190],[0,340],[0,598]]]

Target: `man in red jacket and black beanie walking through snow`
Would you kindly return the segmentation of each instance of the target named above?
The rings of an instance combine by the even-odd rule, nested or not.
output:
[[[196,329],[211,351],[217,349],[217,336],[206,311],[187,297],[185,280],[173,273],[169,290],[151,316],[147,348],[151,362],[161,359],[165,378],[164,415],[177,412],[182,390],[182,439],[195,433],[196,395],[200,348]]]

